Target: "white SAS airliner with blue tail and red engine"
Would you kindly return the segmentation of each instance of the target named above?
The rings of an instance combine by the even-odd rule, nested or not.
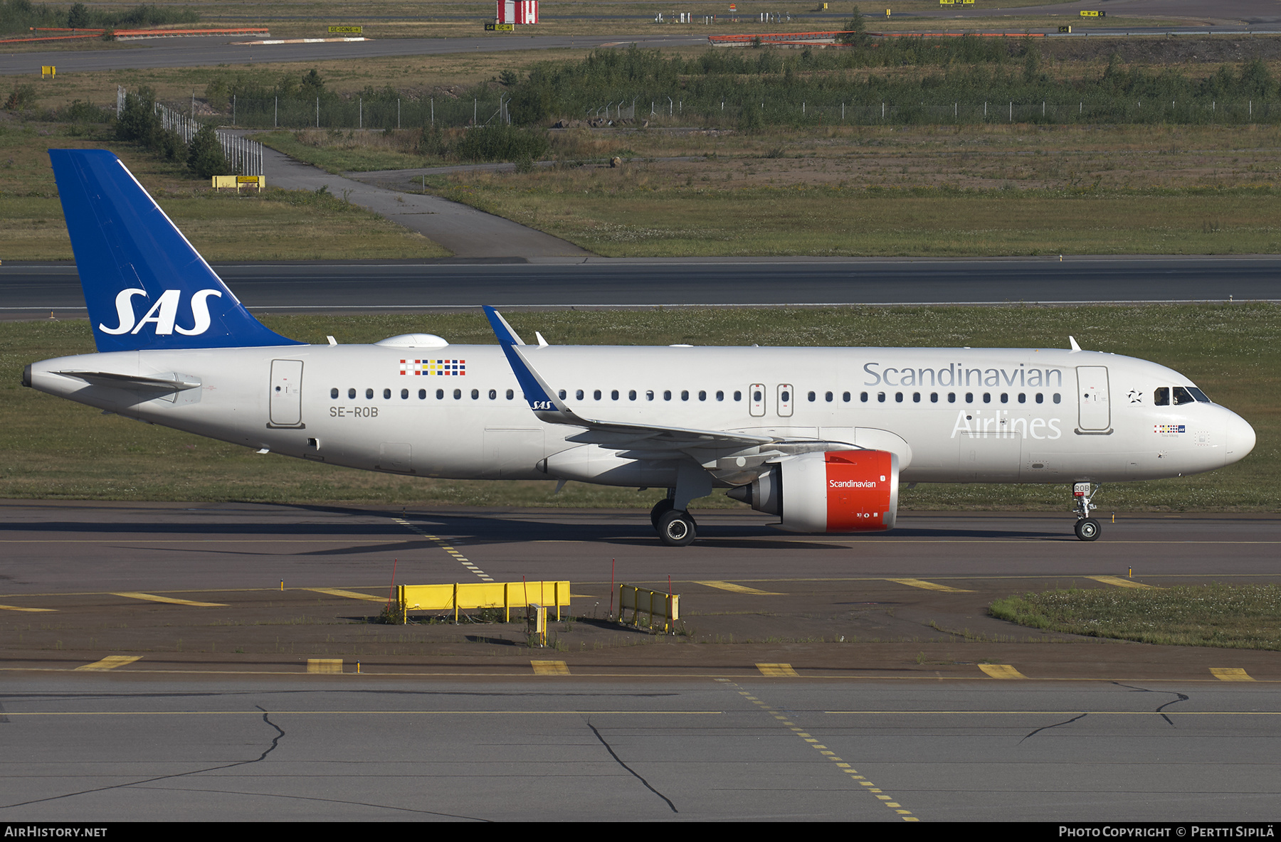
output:
[[[260,324],[105,150],[50,150],[97,353],[23,385],[328,465],[448,479],[665,488],[660,540],[714,489],[796,532],[893,528],[907,482],[1072,489],[1212,471],[1254,430],[1154,362],[1057,348],[526,344],[432,334],[313,346]]]

